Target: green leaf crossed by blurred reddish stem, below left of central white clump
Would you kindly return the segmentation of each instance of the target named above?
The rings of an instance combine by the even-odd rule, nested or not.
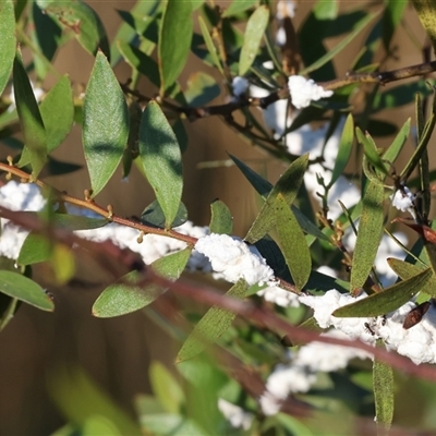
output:
[[[152,264],[152,267],[159,276],[177,280],[190,259],[191,250],[187,247],[160,257]],[[106,288],[93,305],[93,315],[99,318],[125,315],[153,303],[165,292],[165,289],[155,283],[136,286],[141,280],[141,272],[131,271]]]

